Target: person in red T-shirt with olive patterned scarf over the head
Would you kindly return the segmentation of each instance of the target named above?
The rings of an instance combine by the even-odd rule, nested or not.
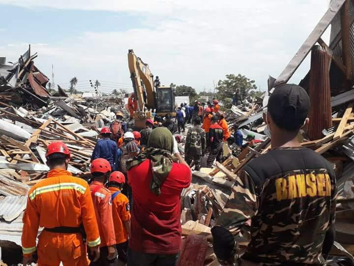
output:
[[[150,133],[140,156],[128,168],[134,199],[128,266],[175,266],[181,245],[180,194],[190,185],[191,170],[172,133],[163,127]],[[169,170],[161,173],[162,168]]]

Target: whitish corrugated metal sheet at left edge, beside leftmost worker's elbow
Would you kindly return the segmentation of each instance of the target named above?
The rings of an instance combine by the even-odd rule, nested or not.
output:
[[[0,197],[0,218],[11,222],[26,209],[26,196]]]

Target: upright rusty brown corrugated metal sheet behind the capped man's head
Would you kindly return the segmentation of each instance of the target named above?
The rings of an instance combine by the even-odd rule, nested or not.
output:
[[[311,52],[310,109],[311,123],[308,128],[310,139],[322,137],[322,130],[332,127],[332,107],[330,101],[329,67],[331,56],[321,46],[314,46]],[[315,108],[316,106],[316,108]]]

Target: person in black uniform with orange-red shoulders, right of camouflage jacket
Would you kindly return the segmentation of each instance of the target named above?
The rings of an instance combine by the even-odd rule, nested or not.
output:
[[[221,163],[222,153],[223,153],[223,141],[224,141],[224,131],[223,128],[219,126],[218,118],[213,116],[211,118],[211,126],[209,128],[208,138],[210,140],[211,151],[207,158],[207,167],[211,167],[214,160]]]

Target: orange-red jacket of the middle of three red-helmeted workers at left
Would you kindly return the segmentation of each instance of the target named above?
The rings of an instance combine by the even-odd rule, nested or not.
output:
[[[98,224],[98,230],[101,236],[100,247],[113,246],[116,244],[112,216],[111,192],[103,186],[102,183],[93,181],[89,188],[92,192],[97,186],[100,189],[92,196],[94,211]]]

